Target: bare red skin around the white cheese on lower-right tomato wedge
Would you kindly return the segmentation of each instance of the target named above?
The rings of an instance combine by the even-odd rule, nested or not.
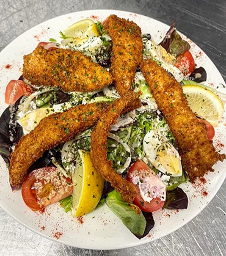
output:
[[[137,205],[140,208],[140,210],[146,211],[148,213],[160,210],[163,207],[165,201],[162,201],[159,197],[152,199],[150,202],[145,201],[140,194],[139,185],[133,183],[133,173],[135,171],[140,172],[139,178],[144,178],[144,176],[141,174],[141,172],[143,171],[145,171],[146,176],[152,177],[153,175],[155,175],[155,178],[158,178],[157,175],[153,172],[153,170],[151,170],[150,167],[144,163],[144,161],[137,159],[136,163],[134,163],[129,168],[129,172],[126,175],[126,180],[131,182],[137,191],[136,198],[134,199],[133,203]]]

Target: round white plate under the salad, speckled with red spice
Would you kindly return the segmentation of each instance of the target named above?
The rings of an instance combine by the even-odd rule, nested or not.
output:
[[[161,35],[164,35],[169,29],[166,24],[146,16],[116,10],[89,10],[70,13],[45,21],[20,35],[0,54],[0,90],[2,92],[0,95],[0,111],[4,111],[7,107],[4,103],[5,86],[10,79],[18,79],[21,75],[20,70],[23,66],[24,54],[31,53],[40,41],[56,38],[60,42],[59,31],[64,31],[65,28],[76,21],[84,18],[103,21],[112,13],[133,20],[142,28],[143,33],[150,33],[156,41],[160,40]],[[189,39],[187,38],[187,40]],[[208,81],[205,84],[213,87],[219,86],[222,92],[226,92],[222,86],[224,80],[213,62],[191,40],[189,40],[189,43],[197,66],[202,65],[207,71]],[[216,145],[217,150],[225,153],[226,137],[224,134],[226,133],[226,126],[223,123],[224,120],[225,112],[221,123],[216,129],[214,145]],[[87,249],[120,249],[137,246],[161,238],[179,229],[200,213],[221,187],[226,176],[225,163],[217,163],[214,166],[216,171],[206,175],[205,184],[191,185],[189,183],[182,186],[189,197],[188,209],[180,211],[160,210],[154,213],[155,227],[151,230],[150,235],[142,240],[138,240],[133,236],[120,219],[106,206],[98,208],[80,219],[71,218],[71,214],[66,214],[58,204],[49,206],[44,213],[34,213],[24,204],[20,191],[12,193],[9,185],[8,170],[2,159],[0,160],[0,206],[28,229],[46,238],[57,240],[70,246]],[[207,195],[206,192],[208,193]]]

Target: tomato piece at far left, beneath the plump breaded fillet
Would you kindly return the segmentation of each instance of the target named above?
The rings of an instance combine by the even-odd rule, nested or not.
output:
[[[12,105],[21,96],[29,96],[33,93],[31,86],[21,80],[11,80],[5,89],[5,103]]]

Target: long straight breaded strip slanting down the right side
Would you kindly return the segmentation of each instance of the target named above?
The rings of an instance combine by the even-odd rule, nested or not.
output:
[[[213,165],[223,161],[225,154],[216,152],[204,123],[189,108],[181,85],[153,60],[143,60],[140,68],[177,141],[181,163],[190,180],[213,172]]]

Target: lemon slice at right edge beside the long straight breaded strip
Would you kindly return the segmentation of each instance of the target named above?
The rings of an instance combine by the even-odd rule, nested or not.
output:
[[[202,86],[187,85],[182,88],[188,105],[195,115],[210,122],[211,125],[217,126],[224,111],[224,104],[220,98]]]

